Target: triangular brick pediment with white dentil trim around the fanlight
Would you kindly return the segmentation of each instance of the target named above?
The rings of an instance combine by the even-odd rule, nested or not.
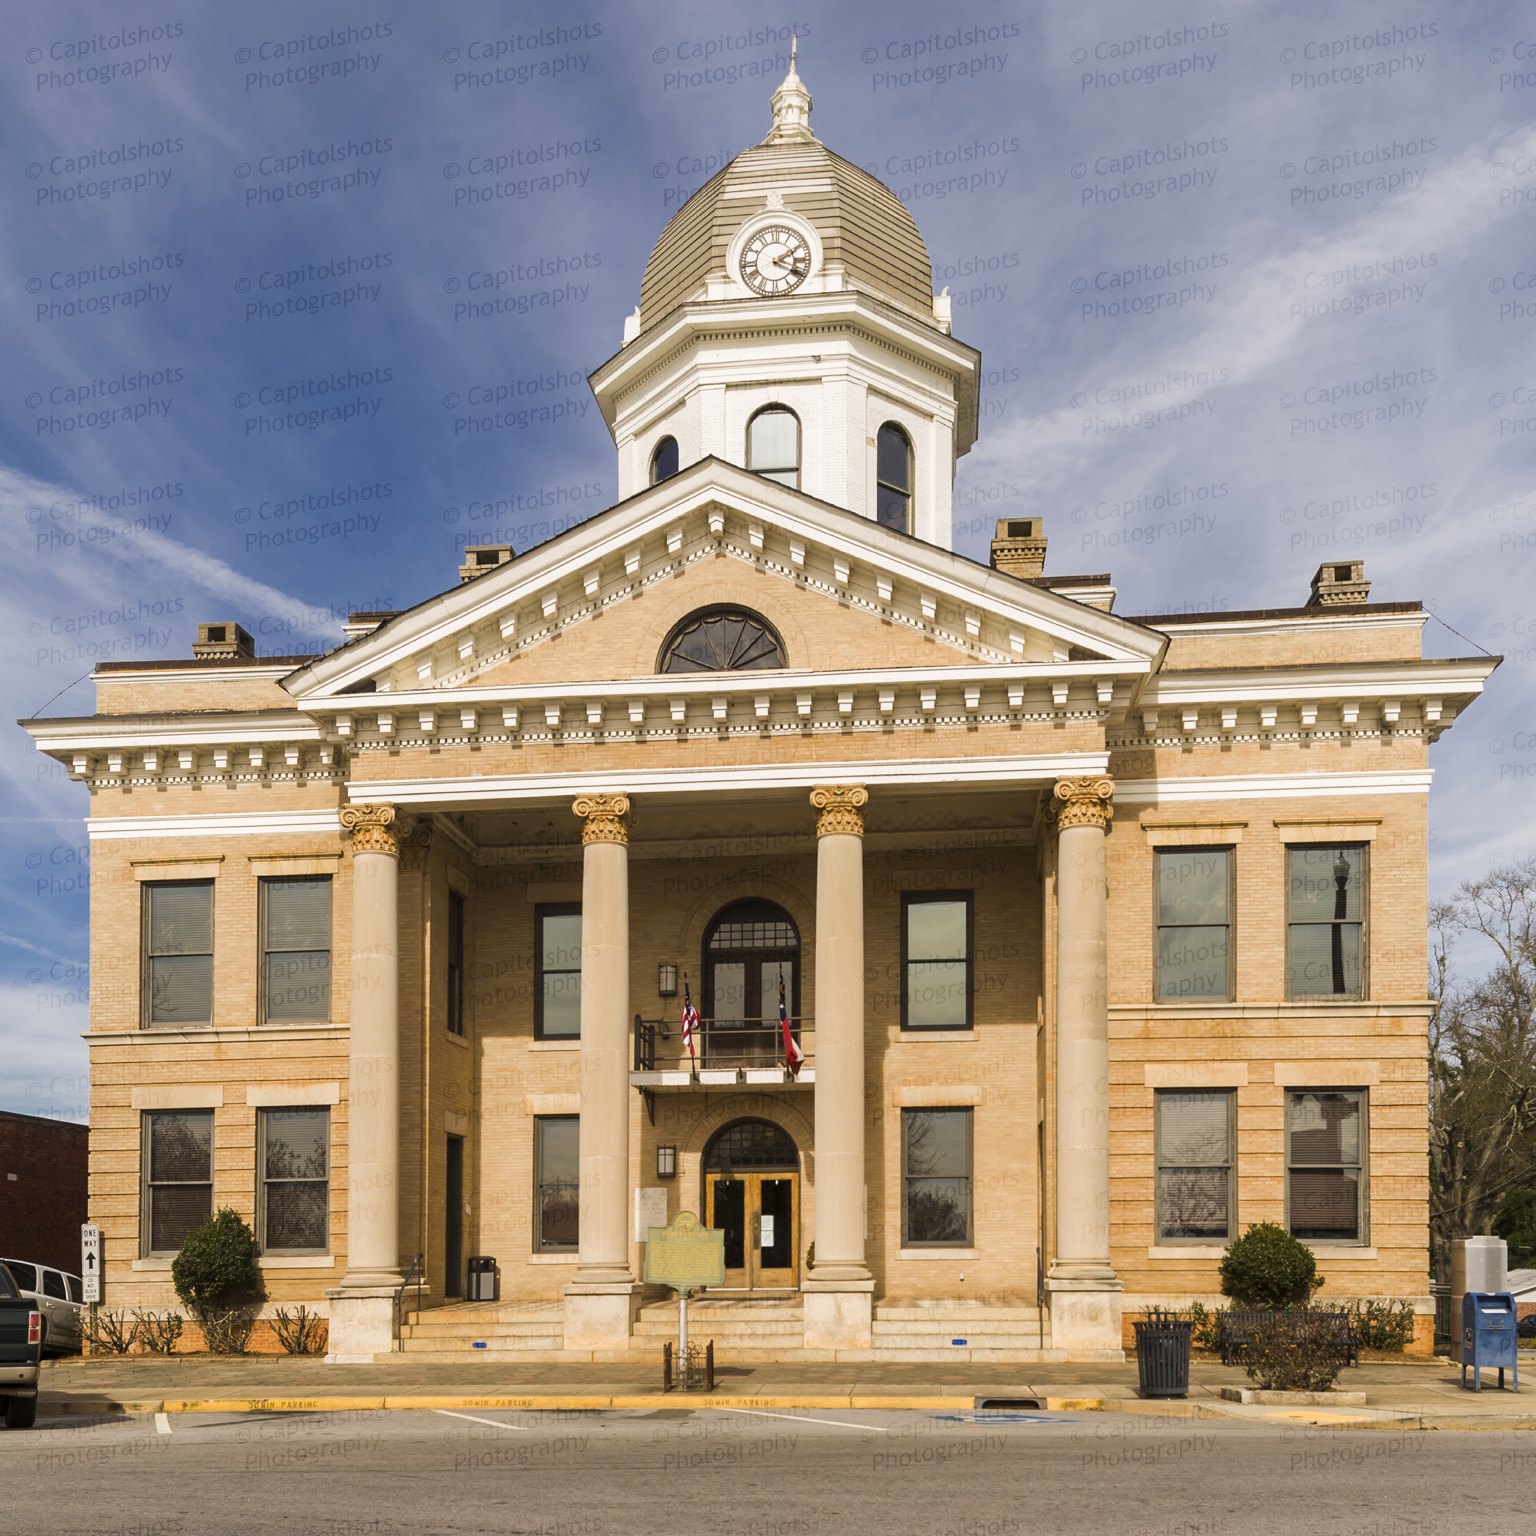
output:
[[[720,601],[765,613],[790,670],[813,677],[1069,662],[1129,677],[1164,644],[711,458],[395,616],[284,687],[324,708],[364,691],[415,700],[624,684],[654,676],[674,616]]]

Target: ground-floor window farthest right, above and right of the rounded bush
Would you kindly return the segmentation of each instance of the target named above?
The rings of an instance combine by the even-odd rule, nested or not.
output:
[[[1286,1212],[1303,1243],[1364,1243],[1366,1095],[1286,1095]]]

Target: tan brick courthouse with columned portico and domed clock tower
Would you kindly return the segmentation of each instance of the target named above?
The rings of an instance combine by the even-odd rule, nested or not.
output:
[[[613,507],[26,723],[91,791],[108,1304],[229,1204],[336,1355],[613,1359],[691,1210],[725,1358],[1107,1359],[1276,1221],[1427,1339],[1428,750],[1495,662],[1358,561],[1127,617],[1049,516],[954,553],[982,356],[809,109],[651,253]]]

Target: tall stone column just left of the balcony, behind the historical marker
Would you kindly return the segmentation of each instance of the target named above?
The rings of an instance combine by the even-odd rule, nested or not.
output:
[[[565,1287],[565,1347],[624,1349],[630,1269],[630,802],[588,794],[581,906],[581,1263]]]

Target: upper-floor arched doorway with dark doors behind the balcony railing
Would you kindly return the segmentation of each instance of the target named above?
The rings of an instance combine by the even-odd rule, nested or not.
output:
[[[711,1064],[768,1066],[783,1055],[779,986],[800,1034],[800,931],[773,902],[722,906],[703,934],[703,1038]]]

